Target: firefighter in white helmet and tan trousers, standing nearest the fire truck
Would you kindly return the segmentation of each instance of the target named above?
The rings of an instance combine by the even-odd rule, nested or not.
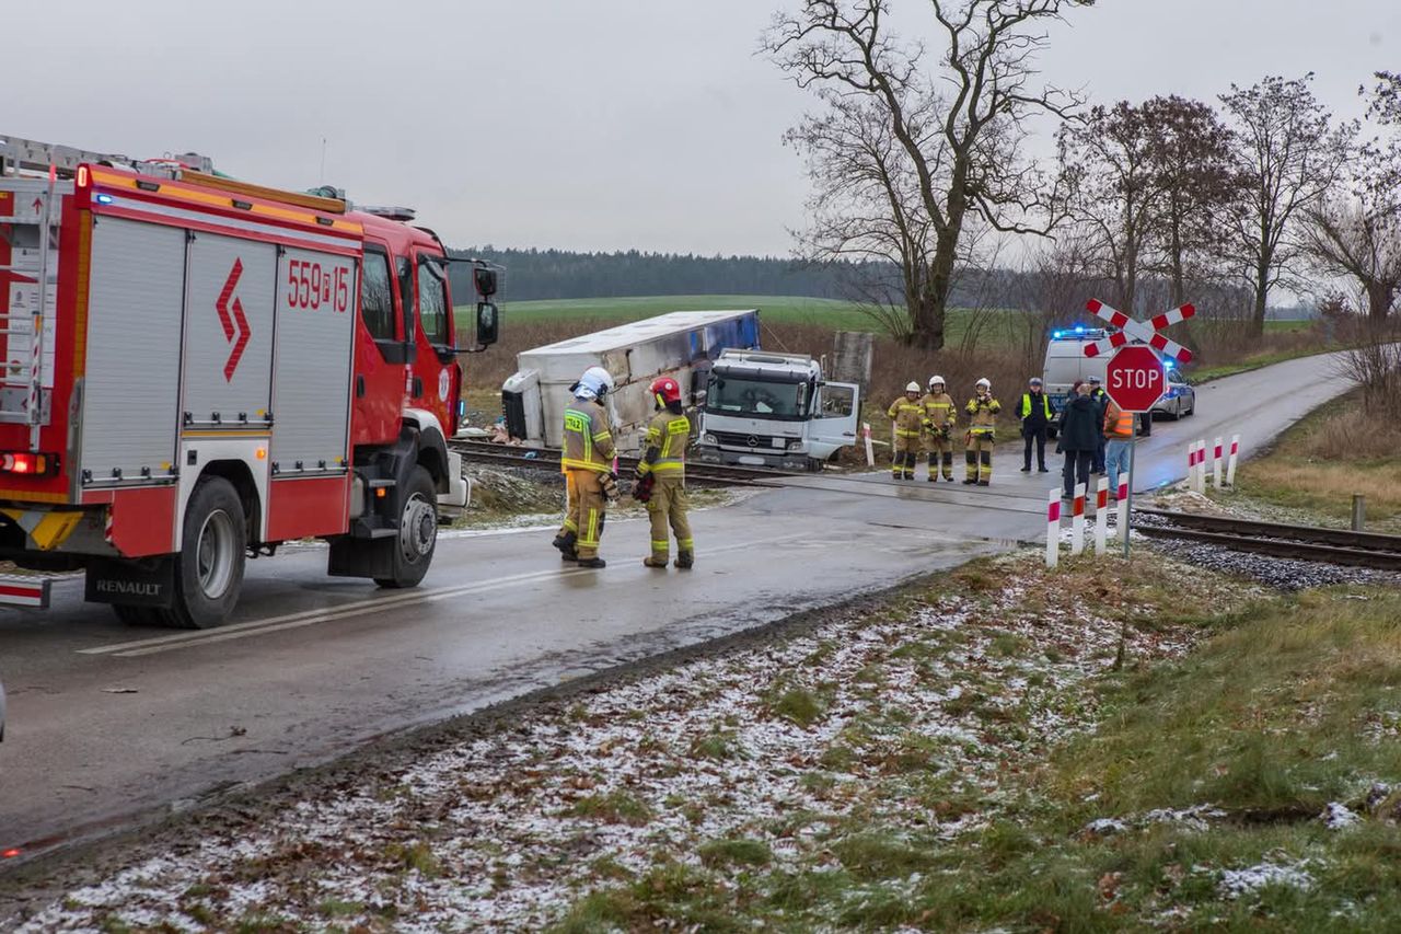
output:
[[[612,387],[608,370],[590,366],[574,383],[574,397],[565,407],[565,450],[559,466],[569,488],[569,509],[555,547],[565,561],[577,561],[580,568],[607,567],[598,557],[598,540],[618,478],[612,473],[614,442],[602,400]]]

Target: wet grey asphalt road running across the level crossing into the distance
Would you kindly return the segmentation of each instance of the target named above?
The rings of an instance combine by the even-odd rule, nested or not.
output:
[[[1198,438],[1269,440],[1341,393],[1309,358],[1198,390],[1157,422],[1139,489],[1187,473]],[[1010,404],[1013,391],[1003,393]],[[609,522],[605,571],[559,561],[553,530],[448,533],[413,590],[325,576],[324,547],[248,564],[219,630],[120,624],[55,583],[46,613],[0,611],[0,850],[71,841],[134,815],[343,754],[388,732],[958,565],[1045,530],[1049,474],[999,452],[992,487],[888,473],[785,481],[698,513],[696,567],[651,571],[643,520]],[[955,463],[962,478],[962,463]],[[0,867],[3,868],[3,867]]]

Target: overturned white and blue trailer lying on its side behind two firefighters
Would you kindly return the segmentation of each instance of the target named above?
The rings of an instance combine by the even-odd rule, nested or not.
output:
[[[525,351],[502,386],[506,429],[527,445],[559,447],[569,388],[586,369],[601,366],[615,383],[608,414],[618,447],[635,452],[653,414],[653,380],[675,379],[682,398],[695,405],[722,351],[758,346],[759,313],[747,309],[672,311]]]

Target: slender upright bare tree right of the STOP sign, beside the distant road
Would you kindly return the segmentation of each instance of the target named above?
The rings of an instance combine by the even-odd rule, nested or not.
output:
[[[1231,84],[1222,104],[1234,123],[1234,168],[1241,194],[1226,220],[1227,257],[1254,290],[1252,334],[1265,334],[1269,290],[1297,271],[1293,233],[1346,160],[1351,125],[1334,128],[1303,79],[1269,76],[1248,88]]]

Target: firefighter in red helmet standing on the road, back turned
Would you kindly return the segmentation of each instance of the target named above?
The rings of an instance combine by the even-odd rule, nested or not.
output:
[[[691,520],[686,519],[686,445],[691,419],[681,411],[681,384],[663,376],[651,384],[657,414],[647,425],[642,460],[633,478],[633,496],[647,503],[651,519],[651,554],[642,560],[649,568],[667,567],[670,540],[667,524],[677,537],[677,567],[685,571],[695,564]]]

